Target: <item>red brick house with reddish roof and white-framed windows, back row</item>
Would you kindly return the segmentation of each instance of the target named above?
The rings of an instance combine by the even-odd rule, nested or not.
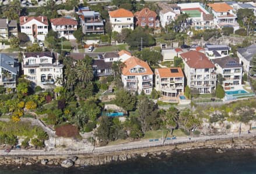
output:
[[[134,13],[134,16],[136,26],[148,26],[150,28],[157,28],[160,26],[156,12],[150,10],[149,8],[144,8],[141,11]]]

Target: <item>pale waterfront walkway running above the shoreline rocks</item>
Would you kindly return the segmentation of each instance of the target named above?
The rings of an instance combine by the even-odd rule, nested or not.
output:
[[[242,132],[227,135],[213,135],[213,136],[199,136],[199,137],[177,137],[174,140],[158,140],[156,142],[149,142],[149,140],[143,140],[140,142],[131,142],[125,144],[117,144],[113,146],[104,146],[104,147],[91,147],[88,150],[75,150],[75,151],[44,151],[44,150],[11,150],[9,155],[79,155],[79,154],[106,154],[106,153],[114,153],[118,151],[125,150],[135,150],[149,147],[160,147],[160,146],[170,146],[173,144],[182,144],[182,143],[194,143],[194,142],[204,142],[206,140],[225,140],[230,138],[239,138],[239,137],[254,137],[256,136],[256,131]],[[6,155],[6,153],[2,150],[0,151],[0,155]]]

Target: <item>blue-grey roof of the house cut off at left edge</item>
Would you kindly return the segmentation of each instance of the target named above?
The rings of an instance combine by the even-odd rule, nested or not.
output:
[[[13,67],[10,66],[11,64],[13,64]],[[19,64],[17,60],[2,53],[0,53],[0,67],[16,75],[19,71]]]

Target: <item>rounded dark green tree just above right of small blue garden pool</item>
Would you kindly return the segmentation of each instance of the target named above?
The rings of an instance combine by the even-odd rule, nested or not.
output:
[[[127,111],[132,111],[135,108],[136,97],[131,95],[127,90],[121,89],[115,96],[115,104]]]

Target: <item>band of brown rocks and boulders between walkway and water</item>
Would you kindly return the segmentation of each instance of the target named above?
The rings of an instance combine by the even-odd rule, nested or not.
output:
[[[181,151],[196,150],[201,148],[212,148],[216,153],[225,153],[226,150],[254,149],[255,137],[240,137],[226,140],[208,140],[205,142],[184,143],[171,146],[143,148],[139,150],[120,151],[111,154],[83,154],[77,156],[0,156],[0,165],[47,165],[62,166],[96,166],[110,162],[121,162],[139,157],[162,158]]]

